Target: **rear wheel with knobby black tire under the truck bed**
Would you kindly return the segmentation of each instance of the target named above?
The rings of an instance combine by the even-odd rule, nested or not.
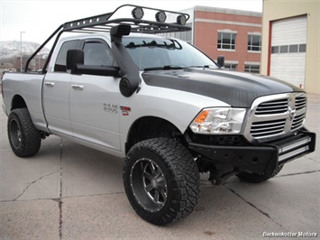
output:
[[[14,109],[8,117],[9,143],[18,157],[31,157],[39,152],[41,133],[32,123],[27,108]]]

